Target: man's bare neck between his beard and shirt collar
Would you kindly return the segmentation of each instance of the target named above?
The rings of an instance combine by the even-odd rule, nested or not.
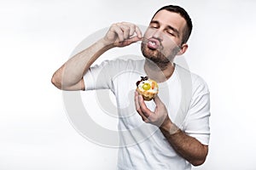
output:
[[[144,70],[147,76],[156,82],[166,82],[174,72],[174,64],[168,63],[164,68],[154,64],[150,59],[145,60]]]

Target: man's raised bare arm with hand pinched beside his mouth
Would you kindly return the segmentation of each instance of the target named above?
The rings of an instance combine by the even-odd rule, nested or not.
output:
[[[84,74],[104,52],[114,47],[125,47],[142,39],[142,33],[131,23],[113,24],[105,37],[86,48],[55,71],[51,82],[62,90],[84,90]]]

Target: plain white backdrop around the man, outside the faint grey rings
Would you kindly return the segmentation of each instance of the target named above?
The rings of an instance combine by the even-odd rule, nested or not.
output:
[[[85,37],[119,21],[147,26],[168,3],[194,21],[185,58],[211,90],[209,155],[195,169],[255,169],[255,1],[0,0],[0,170],[114,169],[117,150],[73,128],[50,78]]]

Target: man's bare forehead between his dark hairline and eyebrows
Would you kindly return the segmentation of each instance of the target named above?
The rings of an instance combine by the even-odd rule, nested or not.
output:
[[[166,9],[160,10],[154,15],[152,20],[159,21],[160,25],[172,26],[178,31],[182,31],[184,26],[186,26],[186,20],[180,14],[167,11]]]

